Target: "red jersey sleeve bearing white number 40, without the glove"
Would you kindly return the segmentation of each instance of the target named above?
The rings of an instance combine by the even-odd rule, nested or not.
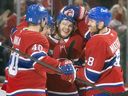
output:
[[[52,57],[48,56],[48,50],[49,50],[49,42],[46,37],[40,36],[39,34],[37,35],[32,35],[35,36],[35,38],[31,37],[29,34],[29,39],[25,40],[26,44],[22,43],[22,47],[26,46],[25,53],[29,54],[31,57],[35,58],[36,60],[42,61],[48,64],[48,66],[52,66],[56,68],[59,64],[59,62],[56,59],[53,59]],[[32,38],[30,40],[30,37]],[[25,37],[26,38],[26,37]],[[26,60],[27,62],[27,60]],[[36,61],[33,60],[28,60],[28,67],[34,67],[38,72],[41,71],[46,71],[48,73],[52,73],[52,71],[49,68],[46,68],[42,66],[41,64],[37,63]]]

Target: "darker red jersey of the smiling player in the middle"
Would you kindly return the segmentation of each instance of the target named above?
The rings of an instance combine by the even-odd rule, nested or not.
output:
[[[52,40],[56,42],[53,50],[54,58],[69,58],[74,61],[78,60],[84,44],[84,40],[80,35],[73,34],[71,37],[64,39],[63,41],[56,39]],[[78,93],[75,83],[71,84],[70,82],[66,82],[62,80],[60,76],[55,74],[48,74],[47,88],[48,93],[52,93],[54,95],[71,96]]]

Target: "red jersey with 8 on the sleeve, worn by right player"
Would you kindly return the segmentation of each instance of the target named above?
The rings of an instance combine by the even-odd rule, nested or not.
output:
[[[86,44],[85,59],[85,67],[77,71],[79,78],[112,93],[124,91],[120,43],[114,30],[109,29],[105,34],[92,36]],[[86,96],[102,93],[92,86],[83,87],[81,90],[86,91]]]

